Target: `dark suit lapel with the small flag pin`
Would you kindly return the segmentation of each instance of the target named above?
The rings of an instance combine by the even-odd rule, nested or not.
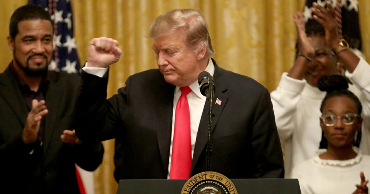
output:
[[[225,83],[225,77],[222,74],[223,69],[219,68],[216,64],[216,62],[212,59],[213,64],[215,65],[215,72],[213,74],[214,77],[214,83],[215,83],[215,95],[214,95],[214,101],[216,99],[219,99],[221,101],[220,105],[213,103],[213,118],[212,118],[212,132],[215,129],[216,123],[220,117],[220,114],[223,110],[223,108],[226,105],[226,102],[228,101],[228,96],[224,93],[227,90],[227,86]],[[205,102],[202,118],[199,123],[198,133],[196,135],[196,141],[195,141],[195,147],[194,147],[194,154],[193,154],[193,160],[192,160],[192,167],[191,167],[191,174],[195,167],[195,164],[197,163],[199,156],[201,155],[203,149],[206,146],[207,143],[207,136],[208,136],[208,110],[209,110],[209,101],[208,99]]]

